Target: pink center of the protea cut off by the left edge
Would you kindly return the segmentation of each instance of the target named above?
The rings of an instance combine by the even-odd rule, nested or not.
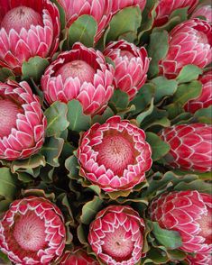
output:
[[[0,137],[7,136],[16,128],[17,114],[23,113],[22,109],[9,99],[0,98]]]

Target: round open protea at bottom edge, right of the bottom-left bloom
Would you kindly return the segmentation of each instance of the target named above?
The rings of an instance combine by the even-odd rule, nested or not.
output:
[[[134,265],[143,256],[143,219],[130,206],[107,206],[90,224],[88,242],[104,264]]]

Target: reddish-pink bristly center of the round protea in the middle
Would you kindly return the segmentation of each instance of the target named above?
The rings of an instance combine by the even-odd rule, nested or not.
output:
[[[94,150],[98,151],[98,164],[105,165],[118,176],[122,176],[128,165],[134,164],[134,147],[122,135],[106,135]]]

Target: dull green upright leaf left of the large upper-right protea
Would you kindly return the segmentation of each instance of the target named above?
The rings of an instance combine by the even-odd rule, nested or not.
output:
[[[159,73],[159,60],[164,58],[168,52],[168,32],[152,32],[148,55],[152,58],[149,68],[149,76],[153,78]]]

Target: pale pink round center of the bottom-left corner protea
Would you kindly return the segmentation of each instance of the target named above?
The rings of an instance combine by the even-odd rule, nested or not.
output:
[[[45,224],[37,215],[28,212],[14,224],[14,239],[24,251],[39,251],[45,245]]]

